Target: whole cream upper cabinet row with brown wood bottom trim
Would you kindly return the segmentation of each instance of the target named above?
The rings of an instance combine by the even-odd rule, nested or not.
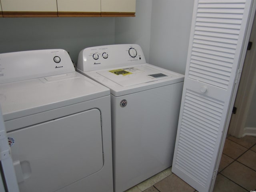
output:
[[[134,16],[136,0],[0,0],[0,17]]]

